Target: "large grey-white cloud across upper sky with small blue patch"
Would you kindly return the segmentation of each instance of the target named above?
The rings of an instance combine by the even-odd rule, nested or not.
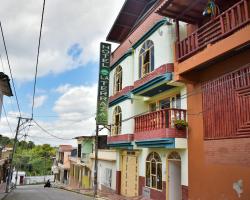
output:
[[[123,2],[47,1],[38,76],[58,74],[98,61],[99,42],[105,40]],[[14,77],[19,81],[34,76],[41,9],[42,0],[1,2],[0,18]],[[0,51],[3,52],[1,43]],[[6,59],[4,63],[7,66]]]

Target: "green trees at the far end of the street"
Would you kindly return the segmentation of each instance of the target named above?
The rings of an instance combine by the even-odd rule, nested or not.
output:
[[[13,139],[0,136],[1,146],[13,146]],[[52,157],[56,154],[49,144],[35,145],[32,141],[20,141],[14,156],[14,166],[19,171],[25,171],[28,176],[50,174]]]

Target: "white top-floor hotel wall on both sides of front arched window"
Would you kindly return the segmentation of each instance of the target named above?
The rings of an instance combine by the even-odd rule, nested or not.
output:
[[[175,38],[174,26],[163,25],[147,40],[154,43],[154,69],[163,64],[173,63],[173,42]],[[139,79],[139,53],[143,43],[134,50],[134,80]]]

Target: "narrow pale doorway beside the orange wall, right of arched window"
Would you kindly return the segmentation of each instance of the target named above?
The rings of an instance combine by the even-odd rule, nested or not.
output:
[[[168,160],[169,200],[181,200],[181,161]]]

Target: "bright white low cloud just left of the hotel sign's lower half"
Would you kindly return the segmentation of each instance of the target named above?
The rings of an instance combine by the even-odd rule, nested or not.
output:
[[[67,90],[63,90],[62,88],[67,88]],[[59,86],[56,90],[61,92],[61,95],[58,97],[53,107],[58,118],[52,118],[48,121],[43,121],[44,119],[35,120],[44,129],[48,130],[49,133],[66,140],[60,140],[45,133],[37,127],[34,122],[32,122],[32,126],[28,131],[29,137],[27,137],[27,140],[32,140],[36,144],[49,143],[51,145],[76,145],[76,140],[70,140],[71,138],[80,135],[95,135],[97,85],[70,86],[69,84],[65,84]],[[8,112],[8,119],[12,130],[15,130],[16,128],[17,116],[17,112]],[[29,117],[30,115],[28,113],[22,113],[22,116]],[[10,132],[6,118],[3,115],[0,132],[2,135],[14,137],[14,134]],[[25,132],[27,132],[27,130],[21,131],[20,137]],[[104,130],[100,134],[107,134],[107,131]]]

